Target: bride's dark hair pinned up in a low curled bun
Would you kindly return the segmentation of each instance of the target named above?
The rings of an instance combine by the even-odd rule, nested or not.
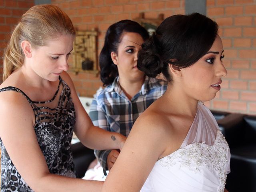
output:
[[[149,77],[162,73],[171,81],[168,64],[178,70],[194,64],[212,47],[217,32],[218,24],[199,13],[170,16],[142,44],[137,67]]]

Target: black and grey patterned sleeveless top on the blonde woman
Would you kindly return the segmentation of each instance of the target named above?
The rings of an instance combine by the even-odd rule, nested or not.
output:
[[[70,88],[64,80],[61,78],[59,80],[58,89],[53,98],[44,102],[32,101],[22,90],[15,87],[2,88],[0,92],[16,91],[28,100],[35,115],[34,130],[36,138],[50,173],[75,178],[71,152],[71,140],[76,121],[75,109],[70,96]],[[59,90],[61,90],[60,93]],[[58,99],[57,107],[50,108],[50,104],[55,99]],[[1,138],[0,146],[2,150],[1,191],[33,192],[12,163]]]

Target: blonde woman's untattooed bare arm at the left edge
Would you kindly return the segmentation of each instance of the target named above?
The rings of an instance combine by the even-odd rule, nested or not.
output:
[[[0,137],[18,172],[36,192],[99,191],[102,183],[51,174],[34,130],[34,112],[18,92],[0,93]]]

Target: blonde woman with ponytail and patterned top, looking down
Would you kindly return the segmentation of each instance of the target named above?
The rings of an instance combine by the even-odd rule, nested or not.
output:
[[[89,148],[121,149],[125,137],[93,126],[68,70],[75,29],[54,5],[30,8],[14,29],[0,85],[1,191],[99,191],[76,179],[73,131]]]

